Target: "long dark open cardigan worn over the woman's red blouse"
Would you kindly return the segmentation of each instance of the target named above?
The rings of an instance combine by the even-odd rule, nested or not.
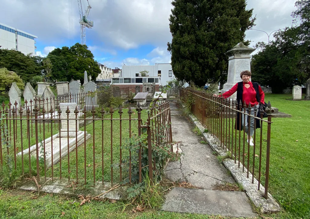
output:
[[[257,82],[252,82],[252,84],[253,84],[254,90],[256,91],[256,100],[257,100],[257,102],[260,103],[260,97],[259,97],[259,91],[258,91],[258,86],[259,85],[258,85]],[[238,82],[238,87],[237,87],[237,102],[239,104],[240,101],[241,101],[241,103],[243,105],[242,95],[243,95],[243,81]],[[238,107],[238,109],[239,109],[239,107]],[[241,124],[240,124],[240,115],[241,115],[241,113],[238,112],[237,113],[237,120],[235,122],[235,129],[241,131],[242,130],[242,125],[241,125],[242,121],[241,121]],[[259,110],[257,111],[257,115],[256,116],[259,117]],[[241,117],[241,120],[242,120],[242,117]],[[259,123],[258,119],[256,119],[256,129],[257,128],[260,128],[260,123]]]

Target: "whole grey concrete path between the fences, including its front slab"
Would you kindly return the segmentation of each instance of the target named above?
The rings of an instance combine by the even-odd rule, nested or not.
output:
[[[204,144],[201,136],[193,133],[193,125],[170,103],[172,137],[178,142],[180,160],[169,162],[166,178],[174,182],[189,182],[200,189],[173,188],[167,195],[162,210],[189,212],[226,217],[257,217],[244,192],[220,191],[221,185],[235,183],[224,166]]]

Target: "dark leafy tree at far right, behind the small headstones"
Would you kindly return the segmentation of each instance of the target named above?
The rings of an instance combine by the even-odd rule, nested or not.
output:
[[[261,50],[251,60],[253,80],[272,87],[273,93],[304,84],[310,77],[310,1],[297,1],[295,6],[296,25],[275,33],[268,45],[259,42]]]

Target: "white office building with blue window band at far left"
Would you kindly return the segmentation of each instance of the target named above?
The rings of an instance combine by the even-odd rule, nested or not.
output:
[[[35,38],[37,36],[0,23],[0,46],[1,49],[15,49],[25,55],[36,54]]]

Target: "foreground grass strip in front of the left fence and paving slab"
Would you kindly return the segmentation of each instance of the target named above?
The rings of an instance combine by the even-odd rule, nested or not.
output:
[[[81,200],[64,195],[40,194],[19,190],[0,190],[0,218],[223,218],[199,214],[136,210],[137,204],[91,200],[80,206]],[[126,207],[127,205],[127,207]],[[126,208],[125,208],[126,207]],[[125,208],[125,209],[124,209]],[[132,211],[132,210],[135,210]],[[62,213],[64,212],[64,213]]]

